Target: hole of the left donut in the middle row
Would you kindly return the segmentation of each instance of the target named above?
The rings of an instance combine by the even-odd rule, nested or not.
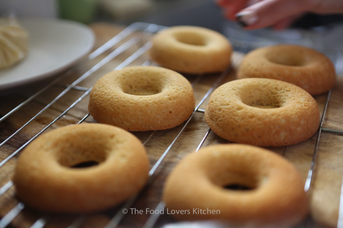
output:
[[[124,93],[138,96],[147,96],[158,94],[162,91],[162,83],[147,76],[137,77],[133,80],[127,80],[123,83]]]

